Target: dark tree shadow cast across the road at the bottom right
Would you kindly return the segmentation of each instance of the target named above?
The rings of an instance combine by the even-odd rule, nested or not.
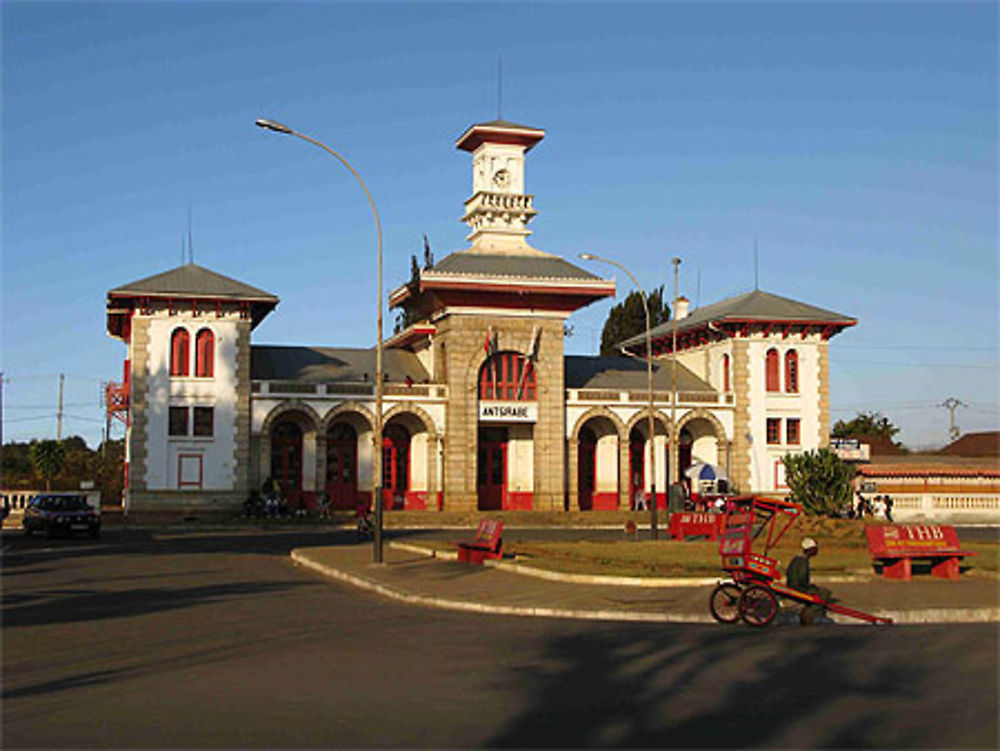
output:
[[[989,691],[969,687],[978,728],[928,735],[928,726],[948,719],[917,709],[933,706],[920,692],[935,682],[935,670],[943,676],[948,669],[920,659],[913,633],[903,650],[910,659],[894,659],[899,646],[890,645],[902,630],[879,632],[720,626],[706,637],[699,627],[650,627],[559,637],[546,656],[550,669],[513,679],[528,686],[527,709],[484,745],[954,747],[965,737],[969,745],[985,739],[994,747],[995,704]],[[955,706],[963,706],[957,698]]]

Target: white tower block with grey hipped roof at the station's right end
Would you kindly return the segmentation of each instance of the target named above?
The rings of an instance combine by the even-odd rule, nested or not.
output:
[[[742,492],[787,490],[782,457],[829,443],[829,340],[857,320],[762,290],[690,314],[686,298],[677,307],[678,363],[733,405],[734,486]],[[652,332],[653,354],[667,362],[673,326],[667,322]],[[623,346],[645,351],[641,336]],[[682,432],[674,443],[683,450],[697,438]],[[675,459],[671,466],[678,466]]]

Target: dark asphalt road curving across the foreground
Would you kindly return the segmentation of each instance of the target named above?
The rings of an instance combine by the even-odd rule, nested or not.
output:
[[[995,748],[995,625],[730,629],[407,607],[316,530],[4,532],[4,748]]]

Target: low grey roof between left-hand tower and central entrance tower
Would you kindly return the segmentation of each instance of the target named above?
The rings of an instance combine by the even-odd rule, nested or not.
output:
[[[406,376],[415,383],[430,380],[417,356],[403,349],[383,350],[382,372],[397,383]],[[375,350],[255,344],[250,347],[250,377],[258,381],[373,383]]]

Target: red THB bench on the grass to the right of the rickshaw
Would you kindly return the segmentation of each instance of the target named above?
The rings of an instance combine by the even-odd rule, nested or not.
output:
[[[909,581],[914,560],[929,560],[931,576],[957,579],[962,558],[976,555],[962,550],[954,527],[939,524],[885,524],[865,527],[873,563],[882,564],[886,579]]]

